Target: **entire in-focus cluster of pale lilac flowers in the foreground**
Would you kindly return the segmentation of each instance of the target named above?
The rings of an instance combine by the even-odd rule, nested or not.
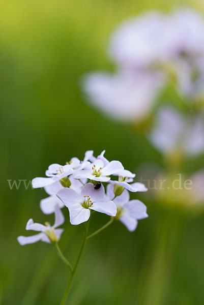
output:
[[[105,150],[95,158],[93,150],[85,153],[84,159],[72,158],[65,165],[51,164],[47,177],[36,177],[33,188],[44,188],[49,197],[40,202],[44,214],[55,213],[55,223],[41,225],[28,220],[26,230],[40,231],[34,236],[19,236],[21,245],[36,242],[57,242],[64,223],[61,208],[68,207],[70,222],[79,225],[89,220],[91,212],[107,214],[112,220],[120,220],[130,231],[137,221],[148,217],[146,206],[139,200],[130,200],[129,192],[145,192],[147,188],[134,182],[135,174],[125,170],[119,161],[108,161]]]

